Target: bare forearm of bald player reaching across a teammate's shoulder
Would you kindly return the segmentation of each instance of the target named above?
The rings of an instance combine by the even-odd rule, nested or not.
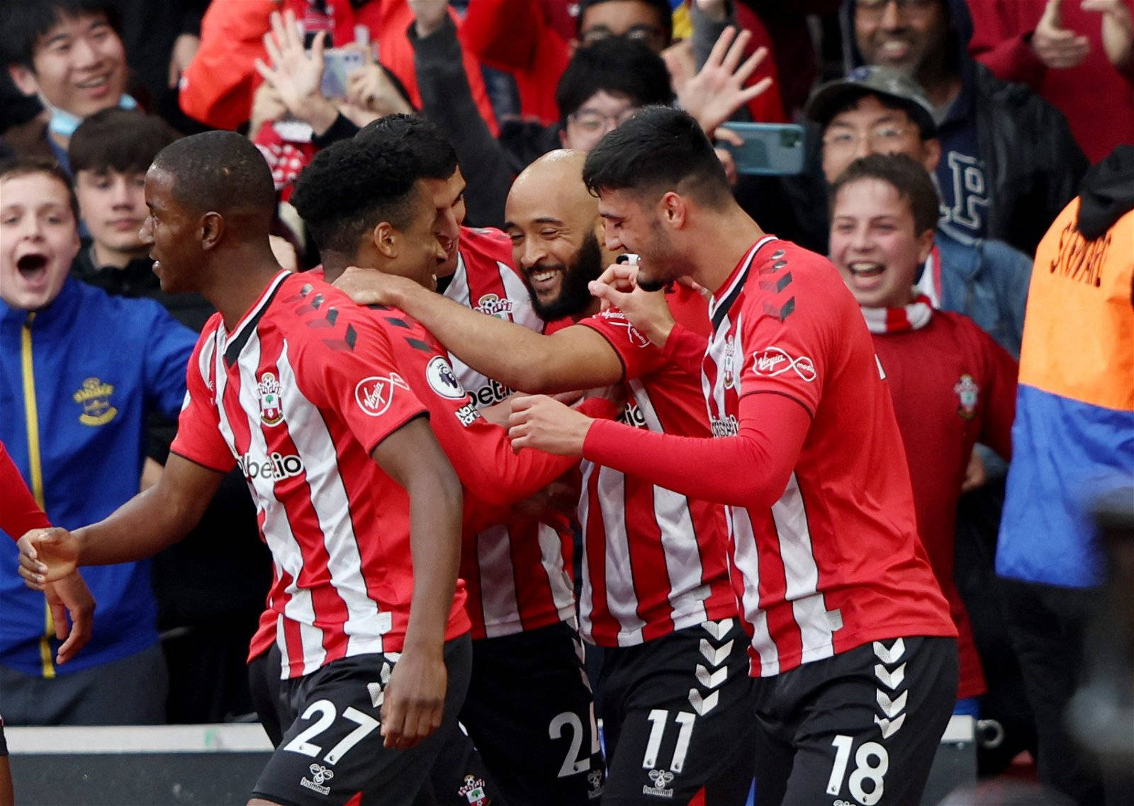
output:
[[[420,286],[399,287],[395,303],[476,372],[513,389],[547,391],[541,384],[553,358],[550,337],[485,316]]]

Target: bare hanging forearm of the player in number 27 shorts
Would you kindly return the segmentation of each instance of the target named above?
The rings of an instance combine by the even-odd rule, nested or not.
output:
[[[405,651],[440,651],[457,589],[460,565],[462,495],[456,474],[420,474],[409,493],[409,552],[414,595],[409,604]]]

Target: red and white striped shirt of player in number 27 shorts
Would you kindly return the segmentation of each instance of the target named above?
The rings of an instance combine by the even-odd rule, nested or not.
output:
[[[282,675],[399,652],[413,569],[409,500],[371,458],[425,412],[369,312],[316,278],[280,272],[240,322],[205,325],[171,450],[240,469],[274,574]],[[469,629],[458,582],[446,639]]]

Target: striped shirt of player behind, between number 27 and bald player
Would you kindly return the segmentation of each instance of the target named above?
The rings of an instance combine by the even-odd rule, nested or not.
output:
[[[500,230],[462,227],[457,270],[445,296],[473,311],[543,330],[527,287],[511,265],[511,240]],[[449,360],[479,408],[511,394],[456,356]],[[566,520],[552,527],[518,515],[473,537],[466,535],[460,577],[468,585],[473,638],[513,635],[574,618],[572,545]]]

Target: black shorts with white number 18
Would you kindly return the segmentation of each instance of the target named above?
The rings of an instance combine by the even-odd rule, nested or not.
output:
[[[875,640],[753,688],[756,806],[908,806],[956,703],[957,642]]]

